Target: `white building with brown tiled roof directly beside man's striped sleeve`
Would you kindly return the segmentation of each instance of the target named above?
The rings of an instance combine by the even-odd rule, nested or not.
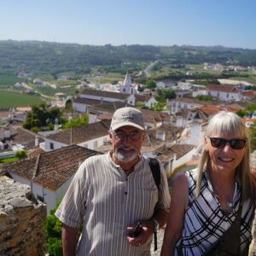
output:
[[[79,165],[95,154],[100,153],[72,145],[5,165],[3,172],[15,182],[28,185],[36,198],[47,205],[49,214],[66,194]]]

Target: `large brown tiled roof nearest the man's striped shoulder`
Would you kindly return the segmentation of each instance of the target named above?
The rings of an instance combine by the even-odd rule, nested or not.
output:
[[[3,165],[3,172],[15,173],[46,189],[59,189],[78,170],[79,163],[99,152],[71,145]]]

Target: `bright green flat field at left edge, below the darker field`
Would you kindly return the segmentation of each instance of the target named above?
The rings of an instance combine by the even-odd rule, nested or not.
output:
[[[0,108],[26,107],[44,102],[40,96],[23,95],[18,92],[0,90]]]

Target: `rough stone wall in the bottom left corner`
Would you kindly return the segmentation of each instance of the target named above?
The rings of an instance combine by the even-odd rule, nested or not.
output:
[[[0,256],[45,254],[45,205],[31,189],[0,177]]]

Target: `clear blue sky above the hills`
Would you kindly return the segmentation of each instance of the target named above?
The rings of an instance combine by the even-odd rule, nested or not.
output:
[[[0,40],[256,49],[255,0],[0,0]]]

